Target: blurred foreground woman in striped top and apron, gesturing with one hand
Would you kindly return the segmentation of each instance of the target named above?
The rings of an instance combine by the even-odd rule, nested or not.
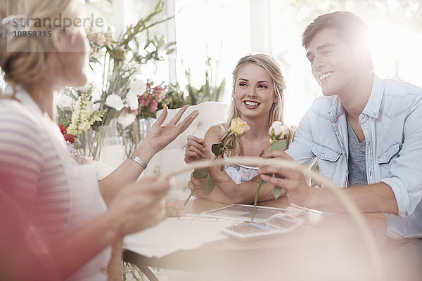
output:
[[[77,22],[81,7],[76,0],[0,6],[0,67],[8,83],[0,99],[0,201],[2,213],[15,218],[0,222],[2,244],[14,249],[0,254],[1,280],[107,280],[101,268],[110,258],[109,246],[163,216],[160,202],[169,183],[156,177],[135,183],[136,178],[198,115],[177,125],[184,107],[161,126],[165,110],[133,159],[98,186],[94,166],[75,162],[53,122],[56,93],[87,83],[89,44]],[[36,18],[44,26],[34,25]],[[79,27],[49,26],[56,18]],[[36,33],[19,36],[29,31]]]

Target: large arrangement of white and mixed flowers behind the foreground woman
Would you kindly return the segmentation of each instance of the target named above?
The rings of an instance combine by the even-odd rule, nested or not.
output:
[[[58,122],[65,125],[72,124],[69,129],[77,133],[75,136],[80,134],[77,136],[75,146],[84,155],[98,159],[105,137],[104,127],[108,126],[113,119],[117,119],[117,124],[120,124],[120,130],[117,131],[125,139],[127,134],[124,129],[134,124],[138,118],[146,115],[155,116],[156,110],[162,106],[160,102],[164,98],[162,91],[164,87],[162,85],[152,87],[152,82],[145,83],[139,78],[139,74],[143,65],[164,60],[164,55],[174,51],[175,42],[165,44],[163,37],[150,37],[148,33],[149,28],[168,20],[153,22],[155,15],[162,13],[164,8],[164,1],[158,1],[151,14],[146,18],[141,18],[135,25],[129,25],[126,32],[123,32],[117,40],[113,40],[110,27],[106,32],[91,28],[87,30],[91,46],[90,67],[92,75],[98,82],[95,83],[93,79],[94,81],[87,87],[68,88],[58,101]],[[145,32],[147,39],[145,44],[141,44],[140,37]],[[154,98],[148,100],[148,96],[145,96],[142,100],[141,97],[151,89]],[[76,100],[81,96],[84,96],[84,110],[75,107]],[[148,107],[145,105],[147,100]],[[141,101],[143,103],[140,103]],[[89,113],[88,107],[91,109]],[[77,115],[74,120],[73,113],[75,112]],[[88,122],[89,115],[95,116],[94,122],[91,122],[92,119]],[[87,133],[87,129],[91,129],[91,132]],[[87,134],[92,136],[82,137]],[[92,139],[89,140],[89,138]],[[94,146],[84,148],[88,141],[94,143]],[[136,139],[136,141],[140,140]]]

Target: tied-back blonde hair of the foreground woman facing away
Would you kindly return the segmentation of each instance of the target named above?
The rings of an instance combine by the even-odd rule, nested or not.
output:
[[[1,20],[4,20],[6,16],[15,16],[14,22],[16,23],[19,18],[24,17],[26,30],[36,31],[37,35],[38,32],[41,34],[51,32],[51,37],[15,37],[13,30],[8,30],[8,27],[11,27],[10,23],[8,26],[0,25],[0,34],[2,34],[0,37],[0,67],[4,72],[4,79],[13,88],[15,85],[27,88],[44,74],[49,52],[53,51],[58,32],[64,28],[63,25],[55,27],[52,24],[30,27],[27,23],[30,22],[28,19],[49,19],[52,22],[59,15],[61,18],[72,19],[82,13],[82,8],[75,0],[13,0],[8,1],[7,5],[2,5],[0,9]],[[68,30],[72,30],[72,27],[67,28],[66,32]]]

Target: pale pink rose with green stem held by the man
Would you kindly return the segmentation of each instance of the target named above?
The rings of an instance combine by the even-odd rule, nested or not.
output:
[[[286,150],[288,148],[288,138],[290,136],[290,129],[288,126],[283,125],[283,123],[279,121],[275,121],[273,124],[271,124],[271,127],[269,127],[268,130],[269,135],[269,151],[274,150]],[[264,154],[264,151],[261,152],[261,155]],[[258,193],[260,192],[260,188],[262,183],[262,179],[258,180],[258,186],[257,186],[257,192],[255,193],[255,201],[253,203],[253,213],[252,218],[250,219],[251,222],[253,222],[253,219],[255,218],[255,212],[257,210],[257,200],[258,200]],[[283,192],[283,188],[280,188],[279,186],[274,186],[274,197],[277,199],[280,197],[281,192]]]

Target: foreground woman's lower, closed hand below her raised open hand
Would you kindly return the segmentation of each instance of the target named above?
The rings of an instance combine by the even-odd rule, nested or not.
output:
[[[136,233],[162,221],[165,216],[163,198],[169,189],[169,181],[150,176],[120,190],[108,208],[117,221],[118,235]]]

